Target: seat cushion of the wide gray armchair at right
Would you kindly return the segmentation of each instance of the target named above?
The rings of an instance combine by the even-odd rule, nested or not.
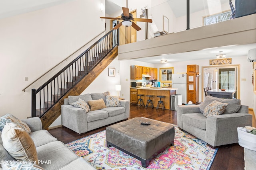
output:
[[[206,129],[206,117],[202,113],[185,113],[182,114],[183,124],[189,124],[200,129]]]

